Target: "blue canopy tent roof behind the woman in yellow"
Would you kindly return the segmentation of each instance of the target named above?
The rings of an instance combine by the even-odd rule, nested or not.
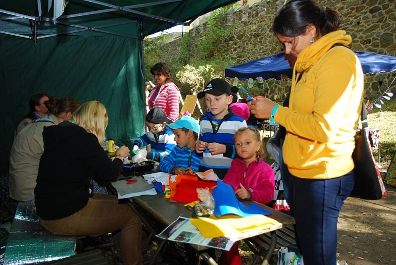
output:
[[[363,66],[365,74],[376,74],[379,72],[392,72],[396,70],[396,57],[376,53],[365,53],[355,51]],[[292,69],[284,59],[285,53],[276,53],[249,61],[240,65],[226,68],[225,77],[238,77],[240,80],[256,78],[261,76],[263,79],[281,79],[281,74],[292,77]]]

